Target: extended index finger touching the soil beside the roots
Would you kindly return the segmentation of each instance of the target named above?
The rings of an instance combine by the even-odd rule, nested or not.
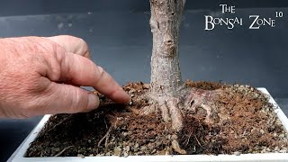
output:
[[[76,85],[93,86],[95,90],[111,98],[116,103],[127,103],[130,96],[102,67],[89,58],[66,53],[60,60],[60,79]]]

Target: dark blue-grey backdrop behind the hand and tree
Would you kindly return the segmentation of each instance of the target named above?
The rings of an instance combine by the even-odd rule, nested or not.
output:
[[[222,16],[236,5],[244,25],[204,31],[204,15]],[[266,87],[288,114],[288,2],[187,0],[180,32],[184,79]],[[276,27],[248,30],[250,14],[275,18]],[[87,41],[93,60],[121,85],[149,81],[151,33],[148,0],[0,0],[0,37],[71,34]],[[0,120],[0,161],[21,144],[40,117]]]

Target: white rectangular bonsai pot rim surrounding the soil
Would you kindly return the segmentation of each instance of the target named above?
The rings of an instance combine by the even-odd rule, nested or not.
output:
[[[284,124],[284,128],[288,132],[288,119],[280,107],[275,103],[275,100],[268,93],[266,88],[258,88],[264,94],[270,96],[269,102],[275,105],[275,113]],[[9,158],[10,161],[287,161],[288,153],[263,153],[263,154],[241,154],[237,155],[177,155],[177,156],[129,156],[129,157],[24,157],[29,144],[37,138],[38,133],[44,127],[50,115],[45,115],[39,122],[30,135],[23,141],[23,144],[14,152],[14,155]]]

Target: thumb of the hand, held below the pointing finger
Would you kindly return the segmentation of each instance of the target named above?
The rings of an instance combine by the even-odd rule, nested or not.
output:
[[[74,85],[51,82],[50,94],[46,98],[46,114],[90,112],[99,106],[97,95]]]

